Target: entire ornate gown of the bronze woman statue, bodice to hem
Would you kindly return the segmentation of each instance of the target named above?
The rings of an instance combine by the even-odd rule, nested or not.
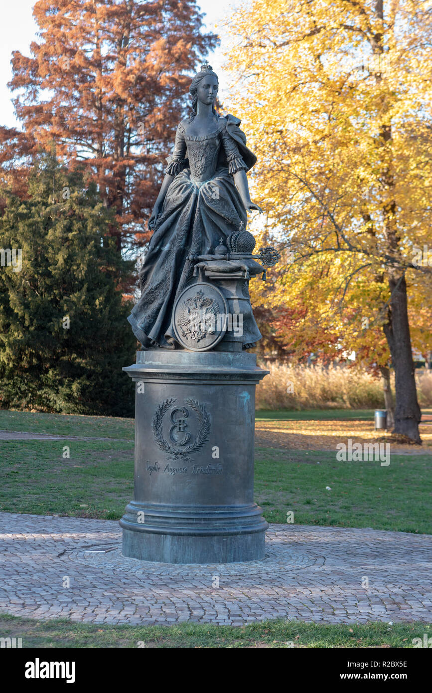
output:
[[[213,252],[240,222],[246,228],[233,174],[249,170],[256,157],[246,147],[240,122],[231,114],[219,117],[215,132],[200,136],[188,134],[187,120],[177,128],[165,170],[174,179],[141,267],[141,299],[128,317],[146,347],[175,348],[172,309],[179,294],[196,281],[188,256]]]

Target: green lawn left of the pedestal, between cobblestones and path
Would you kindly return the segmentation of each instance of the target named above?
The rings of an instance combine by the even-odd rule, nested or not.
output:
[[[0,459],[1,511],[116,520],[134,495],[133,441],[0,441]]]

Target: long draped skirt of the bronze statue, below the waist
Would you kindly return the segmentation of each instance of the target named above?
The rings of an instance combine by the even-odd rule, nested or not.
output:
[[[141,299],[128,317],[144,346],[175,348],[172,310],[197,281],[188,256],[210,254],[240,222],[246,228],[246,210],[228,168],[218,168],[205,183],[196,183],[188,169],[174,178],[141,267]]]

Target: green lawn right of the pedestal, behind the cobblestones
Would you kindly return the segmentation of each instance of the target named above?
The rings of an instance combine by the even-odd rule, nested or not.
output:
[[[388,467],[314,450],[258,448],[255,457],[255,500],[267,522],[293,511],[296,525],[432,534],[431,455],[392,455]]]

